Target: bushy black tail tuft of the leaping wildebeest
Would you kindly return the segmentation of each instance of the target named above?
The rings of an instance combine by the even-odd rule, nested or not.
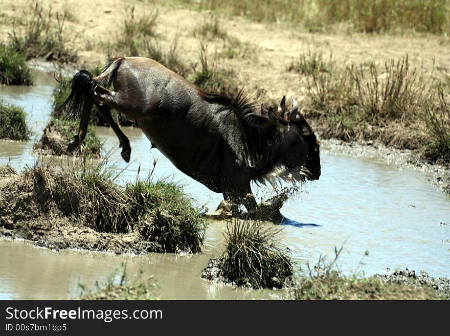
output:
[[[66,117],[76,119],[83,109],[84,101],[94,93],[99,83],[88,71],[80,70],[68,84],[71,85],[71,93],[60,108],[67,110]]]

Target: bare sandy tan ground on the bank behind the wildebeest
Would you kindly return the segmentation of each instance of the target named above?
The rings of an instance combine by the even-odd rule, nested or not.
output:
[[[88,0],[41,1],[44,7],[52,6],[54,12],[69,13],[64,23],[64,35],[71,48],[79,55],[78,68],[103,64],[108,55],[106,43],[117,40],[123,27],[127,10],[134,6],[137,17],[158,9],[156,32],[161,36],[164,47],[178,37],[179,50],[183,58],[194,63],[199,59],[198,41],[193,30],[211,15],[208,12],[175,8],[161,5],[162,2],[110,0],[106,3]],[[28,0],[4,0],[0,9],[0,39],[6,41],[13,29],[23,30],[24,17],[32,12]],[[24,14],[25,13],[25,14]],[[406,54],[410,64],[425,74],[440,77],[450,71],[450,38],[431,34],[407,36],[369,35],[354,33],[346,25],[335,27],[335,33],[309,33],[298,26],[286,24],[255,23],[243,17],[220,17],[219,21],[229,35],[241,42],[248,42],[256,51],[256,57],[249,59],[220,59],[224,65],[236,71],[246,89],[254,92],[258,87],[267,99],[279,99],[283,95],[304,97],[305,87],[300,84],[299,75],[287,71],[289,63],[301,53],[308,51],[332,54],[338,64],[375,61],[383,64]],[[213,50],[210,50],[213,52]]]

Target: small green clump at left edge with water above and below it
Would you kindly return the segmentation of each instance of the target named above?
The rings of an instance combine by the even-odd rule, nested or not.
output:
[[[0,139],[27,141],[30,134],[24,109],[0,100]]]

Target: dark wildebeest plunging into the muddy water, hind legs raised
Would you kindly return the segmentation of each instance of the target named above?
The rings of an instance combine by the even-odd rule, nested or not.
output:
[[[111,84],[115,91],[108,89]],[[152,147],[179,170],[249,212],[257,208],[251,181],[274,175],[319,179],[319,142],[294,98],[290,110],[283,97],[278,110],[261,105],[259,111],[242,90],[236,97],[208,93],[142,57],[111,59],[95,78],[81,70],[71,85],[63,105],[69,115],[80,116],[80,124],[69,151],[83,141],[95,104],[118,136],[126,162],[131,147],[111,109],[138,121]],[[278,210],[268,217],[282,218]]]

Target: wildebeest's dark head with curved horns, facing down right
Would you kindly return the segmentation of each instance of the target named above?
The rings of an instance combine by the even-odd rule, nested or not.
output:
[[[292,108],[286,109],[284,96],[278,110],[266,109],[261,105],[261,114],[267,115],[273,124],[284,129],[282,164],[296,180],[319,180],[320,151],[319,141],[314,131],[299,112],[296,100],[292,97]]]

